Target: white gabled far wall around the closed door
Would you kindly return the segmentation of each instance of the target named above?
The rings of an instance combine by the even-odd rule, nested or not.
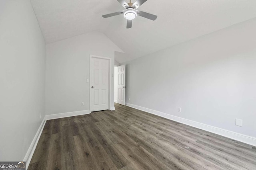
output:
[[[89,110],[90,55],[110,57],[121,51],[103,33],[91,32],[46,45],[46,115]],[[114,77],[111,76],[111,106]],[[84,102],[84,106],[81,106]]]

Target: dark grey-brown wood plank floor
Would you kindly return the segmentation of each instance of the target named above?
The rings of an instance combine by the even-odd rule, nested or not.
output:
[[[127,106],[46,121],[29,170],[256,170],[256,147]]]

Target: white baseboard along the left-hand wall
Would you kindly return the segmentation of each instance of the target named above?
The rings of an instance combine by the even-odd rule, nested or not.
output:
[[[42,134],[42,131],[44,129],[45,123],[46,123],[46,117],[44,117],[41,125],[39,126],[39,128],[38,128],[38,130],[36,132],[36,135],[35,135],[33,141],[31,142],[30,147],[28,148],[28,151],[27,151],[27,153],[26,153],[26,155],[25,155],[25,157],[23,159],[23,161],[26,161],[26,170],[28,169],[28,166],[30,164],[30,161],[31,161],[32,156],[34,154],[34,151],[36,149],[36,145],[37,145],[37,143],[38,143],[38,141],[40,139],[40,136]]]

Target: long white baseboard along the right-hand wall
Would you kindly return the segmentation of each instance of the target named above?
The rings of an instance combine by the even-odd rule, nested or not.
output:
[[[248,135],[243,135],[241,133],[236,133],[236,132],[233,132],[233,131],[228,131],[226,129],[221,129],[221,128],[214,127],[214,126],[211,126],[211,125],[206,125],[204,123],[199,123],[199,122],[192,121],[192,120],[189,120],[189,119],[184,119],[182,117],[169,115],[167,113],[163,113],[163,112],[160,112],[160,111],[148,109],[146,107],[136,106],[134,104],[126,103],[126,106],[129,106],[129,107],[132,107],[132,108],[135,108],[135,109],[138,109],[138,110],[146,111],[148,113],[152,113],[154,115],[158,115],[158,116],[164,117],[166,119],[170,119],[170,120],[177,121],[177,122],[180,122],[180,123],[192,126],[192,127],[196,127],[198,129],[209,131],[209,132],[212,132],[212,133],[224,136],[224,137],[228,137],[228,138],[234,139],[236,141],[240,141],[240,142],[243,142],[243,143],[247,143],[249,145],[256,146],[256,138],[255,137],[251,137],[251,136],[248,136]]]

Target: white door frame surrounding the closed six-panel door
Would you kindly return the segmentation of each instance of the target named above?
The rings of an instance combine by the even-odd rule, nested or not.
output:
[[[109,57],[101,57],[101,56],[97,56],[97,55],[90,55],[90,70],[89,70],[89,76],[90,76],[90,78],[89,78],[89,110],[90,110],[90,113],[92,112],[91,111],[91,108],[92,108],[92,106],[91,106],[91,86],[92,86],[92,84],[91,84],[91,67],[92,67],[92,58],[97,58],[97,59],[105,59],[105,60],[108,60],[108,62],[109,62],[109,64],[108,64],[108,110],[111,110],[111,85],[112,85],[112,82],[111,82],[111,75],[112,75],[112,63],[111,63],[111,58],[109,58]]]

